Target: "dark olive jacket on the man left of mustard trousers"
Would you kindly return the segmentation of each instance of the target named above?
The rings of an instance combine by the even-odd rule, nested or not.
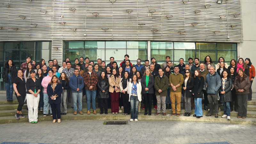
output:
[[[156,76],[154,79],[154,87],[156,89],[156,95],[167,96],[167,88],[169,87],[168,77],[163,75],[162,80],[160,81],[160,77]],[[162,92],[159,93],[158,90],[162,90]]]

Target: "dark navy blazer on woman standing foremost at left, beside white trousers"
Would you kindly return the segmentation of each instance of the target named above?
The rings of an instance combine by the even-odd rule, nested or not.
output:
[[[62,93],[62,85],[61,84],[56,85],[54,92],[52,89],[52,85],[48,84],[48,86],[47,86],[48,103],[49,104],[53,104],[53,103],[60,104],[61,103],[61,93]],[[56,98],[56,100],[52,100],[51,96],[55,95],[55,94],[58,95],[58,97]]]

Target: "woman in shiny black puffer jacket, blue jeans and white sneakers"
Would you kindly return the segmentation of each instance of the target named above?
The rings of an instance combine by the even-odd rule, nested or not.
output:
[[[230,119],[230,101],[232,101],[231,89],[233,87],[232,77],[227,69],[221,73],[221,86],[219,89],[220,102],[223,103],[224,115],[222,118]]]

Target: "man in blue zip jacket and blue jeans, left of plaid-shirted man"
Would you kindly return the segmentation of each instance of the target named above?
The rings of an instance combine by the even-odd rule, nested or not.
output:
[[[76,101],[78,100],[79,114],[83,115],[82,112],[82,98],[83,98],[83,87],[84,79],[79,75],[79,69],[75,68],[74,75],[69,78],[69,87],[72,90],[73,104],[74,104],[74,115],[77,114]]]

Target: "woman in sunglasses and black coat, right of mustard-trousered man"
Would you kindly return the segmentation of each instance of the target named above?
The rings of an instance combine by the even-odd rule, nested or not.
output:
[[[184,116],[190,116],[191,113],[191,99],[193,99],[194,78],[191,76],[191,71],[187,69],[185,71],[184,83],[182,84],[182,95],[185,101],[185,114]]]

